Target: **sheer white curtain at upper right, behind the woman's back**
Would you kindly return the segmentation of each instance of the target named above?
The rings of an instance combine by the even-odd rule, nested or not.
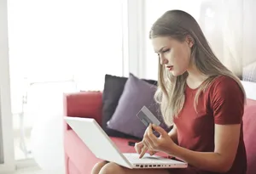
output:
[[[218,2],[218,3],[217,3]],[[202,1],[200,25],[218,58],[245,81],[256,81],[252,0]]]

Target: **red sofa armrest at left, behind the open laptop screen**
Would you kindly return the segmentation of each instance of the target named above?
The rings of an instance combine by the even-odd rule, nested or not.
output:
[[[102,125],[102,92],[64,93],[64,116],[94,118]],[[65,130],[71,129],[64,121]]]

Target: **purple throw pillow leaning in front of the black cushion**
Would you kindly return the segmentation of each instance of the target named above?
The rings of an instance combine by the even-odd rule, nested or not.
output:
[[[170,131],[160,115],[159,104],[154,101],[155,91],[156,87],[154,85],[150,85],[130,73],[125,83],[124,92],[119,98],[119,104],[111,120],[108,121],[108,128],[136,138],[143,138],[147,127],[137,118],[137,113],[145,105],[160,120],[160,126],[166,132]]]

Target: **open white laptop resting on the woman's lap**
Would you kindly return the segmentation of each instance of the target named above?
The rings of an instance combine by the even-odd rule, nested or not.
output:
[[[98,159],[111,161],[130,169],[186,168],[188,166],[183,161],[157,155],[145,154],[142,159],[139,159],[139,154],[136,153],[123,154],[94,119],[67,116],[64,119]]]

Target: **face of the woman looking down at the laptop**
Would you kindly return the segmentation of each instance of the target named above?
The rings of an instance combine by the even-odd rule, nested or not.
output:
[[[183,75],[189,69],[193,42],[189,37],[180,42],[170,36],[157,36],[152,39],[154,52],[159,55],[160,64],[173,76]]]

